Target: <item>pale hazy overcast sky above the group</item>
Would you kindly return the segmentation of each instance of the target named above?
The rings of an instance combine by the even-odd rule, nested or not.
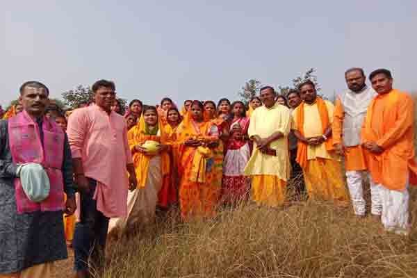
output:
[[[0,16],[3,105],[29,79],[52,97],[111,79],[147,104],[237,99],[248,79],[290,85],[309,67],[329,96],[348,67],[417,90],[416,0],[2,1]]]

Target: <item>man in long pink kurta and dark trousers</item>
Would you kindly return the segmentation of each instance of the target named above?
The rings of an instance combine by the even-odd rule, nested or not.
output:
[[[136,188],[126,122],[111,111],[115,85],[100,80],[92,90],[95,104],[74,111],[67,127],[75,183],[81,191],[81,219],[73,243],[76,277],[87,277],[90,254],[98,263],[109,218],[126,216],[127,190]]]

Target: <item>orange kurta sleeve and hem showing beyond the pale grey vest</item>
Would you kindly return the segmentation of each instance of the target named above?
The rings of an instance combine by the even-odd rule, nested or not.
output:
[[[332,123],[333,144],[342,143],[343,119],[345,111],[340,99],[336,99],[334,107],[334,118]],[[365,158],[361,145],[345,148],[345,170],[361,171],[366,170]]]

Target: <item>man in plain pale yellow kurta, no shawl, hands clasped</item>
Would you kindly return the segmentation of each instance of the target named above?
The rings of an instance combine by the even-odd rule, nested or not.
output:
[[[286,181],[290,177],[288,133],[291,114],[286,106],[275,103],[274,88],[260,91],[263,106],[250,117],[248,135],[254,140],[254,150],[245,168],[252,177],[252,200],[256,204],[284,204]]]

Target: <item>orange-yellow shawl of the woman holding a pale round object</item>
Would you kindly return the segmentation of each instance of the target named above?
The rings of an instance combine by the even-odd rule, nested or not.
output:
[[[161,144],[165,144],[167,141],[166,134],[161,121],[158,122],[158,132],[160,133],[160,135],[148,135],[145,133],[145,130],[145,119],[142,115],[138,124],[136,124],[136,126],[133,126],[129,133],[127,133],[129,147],[133,154],[133,165],[135,165],[138,188],[145,187],[147,173],[149,171],[149,162],[151,161],[151,158],[153,156],[147,156],[140,152],[134,152],[134,147],[136,145],[142,145],[147,140],[153,140],[156,142],[160,142]],[[167,152],[163,152],[160,155],[162,164],[162,176],[164,177],[165,175],[170,174],[170,156],[167,154]]]

